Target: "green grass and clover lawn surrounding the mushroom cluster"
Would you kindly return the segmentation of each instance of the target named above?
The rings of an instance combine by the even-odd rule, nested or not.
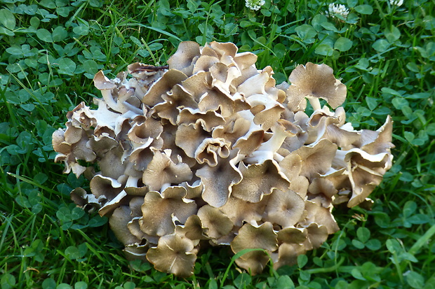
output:
[[[329,2],[1,0],[0,287],[6,288],[434,288],[435,4]],[[394,166],[375,205],[337,209],[340,232],[297,265],[250,276],[228,248],[203,250],[189,279],[128,262],[107,220],[75,208],[88,187],[53,162],[51,134],[65,114],[100,97],[93,75],[132,62],[163,65],[180,41],[232,41],[270,65],[277,83],[297,64],[326,63],[348,87],[347,120],[394,120]]]

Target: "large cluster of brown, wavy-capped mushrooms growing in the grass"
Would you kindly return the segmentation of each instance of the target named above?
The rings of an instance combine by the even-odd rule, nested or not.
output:
[[[187,41],[168,66],[100,71],[98,108],[79,104],[54,132],[55,161],[91,179],[91,193],[76,188],[72,199],[109,218],[128,258],[189,276],[211,244],[262,248],[236,260],[251,274],[267,253],[276,268],[293,265],[339,230],[333,206],[368,202],[382,181],[390,117],[357,131],[329,66],[299,65],[276,85],[256,60],[233,43]]]

